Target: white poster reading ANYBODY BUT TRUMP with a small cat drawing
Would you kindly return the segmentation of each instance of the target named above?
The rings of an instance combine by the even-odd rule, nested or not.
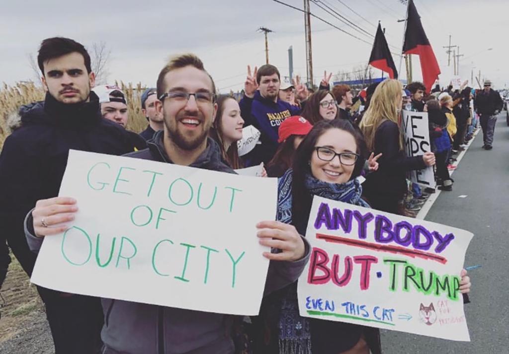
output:
[[[459,284],[472,236],[315,196],[300,315],[469,341]]]

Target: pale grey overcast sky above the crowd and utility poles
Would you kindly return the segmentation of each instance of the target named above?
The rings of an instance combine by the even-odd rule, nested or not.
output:
[[[303,8],[302,0],[282,0]],[[495,88],[509,87],[509,1],[507,0],[414,0],[423,27],[440,63],[442,85],[451,75],[446,49],[449,35],[459,45],[460,76],[471,78],[481,71]],[[83,5],[86,4],[86,5]],[[399,0],[322,0],[336,12],[362,27],[376,32],[380,20],[394,53],[401,52],[406,6]],[[362,18],[348,9],[360,14]],[[351,71],[366,65],[373,37],[356,32],[324,12],[316,4],[312,13],[343,28],[364,43],[312,18],[313,70],[318,83],[327,70]],[[111,50],[109,82],[155,85],[167,58],[182,52],[199,55],[221,92],[243,87],[246,65],[265,64],[261,26],[269,34],[269,61],[282,76],[288,76],[288,47],[293,46],[294,74],[306,76],[304,15],[272,0],[166,0],[109,2],[95,0],[61,2],[54,0],[3,2],[0,12],[0,81],[14,84],[34,79],[27,55],[37,55],[42,39],[72,38],[87,47],[105,42]],[[488,50],[488,48],[493,48]],[[418,58],[413,56],[413,76],[420,79]],[[394,56],[399,68],[400,57]],[[374,70],[375,75],[381,74]],[[404,65],[401,77],[405,78]],[[475,79],[474,79],[475,80]]]

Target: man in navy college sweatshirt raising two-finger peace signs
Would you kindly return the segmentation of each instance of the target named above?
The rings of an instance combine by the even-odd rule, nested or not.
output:
[[[267,163],[277,150],[277,130],[279,125],[292,115],[299,115],[301,109],[278,97],[281,84],[279,71],[273,65],[267,64],[260,69],[247,69],[247,79],[244,84],[244,97],[240,101],[240,109],[245,126],[252,125],[260,130],[261,144],[258,144],[249,154],[248,165]],[[300,100],[307,98],[305,85],[295,86],[296,97]]]

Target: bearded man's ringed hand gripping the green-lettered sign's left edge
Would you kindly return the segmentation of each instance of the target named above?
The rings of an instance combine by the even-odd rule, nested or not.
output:
[[[32,211],[37,237],[56,235],[68,229],[65,223],[73,221],[78,211],[76,199],[55,197],[38,200]]]

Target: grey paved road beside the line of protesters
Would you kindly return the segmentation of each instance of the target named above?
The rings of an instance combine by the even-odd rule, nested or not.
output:
[[[442,192],[426,220],[474,233],[465,264],[472,270],[472,303],[465,305],[471,342],[383,331],[385,354],[509,353],[509,127],[498,116],[493,150],[479,132],[461,160],[452,192]],[[459,198],[467,195],[466,198]]]

